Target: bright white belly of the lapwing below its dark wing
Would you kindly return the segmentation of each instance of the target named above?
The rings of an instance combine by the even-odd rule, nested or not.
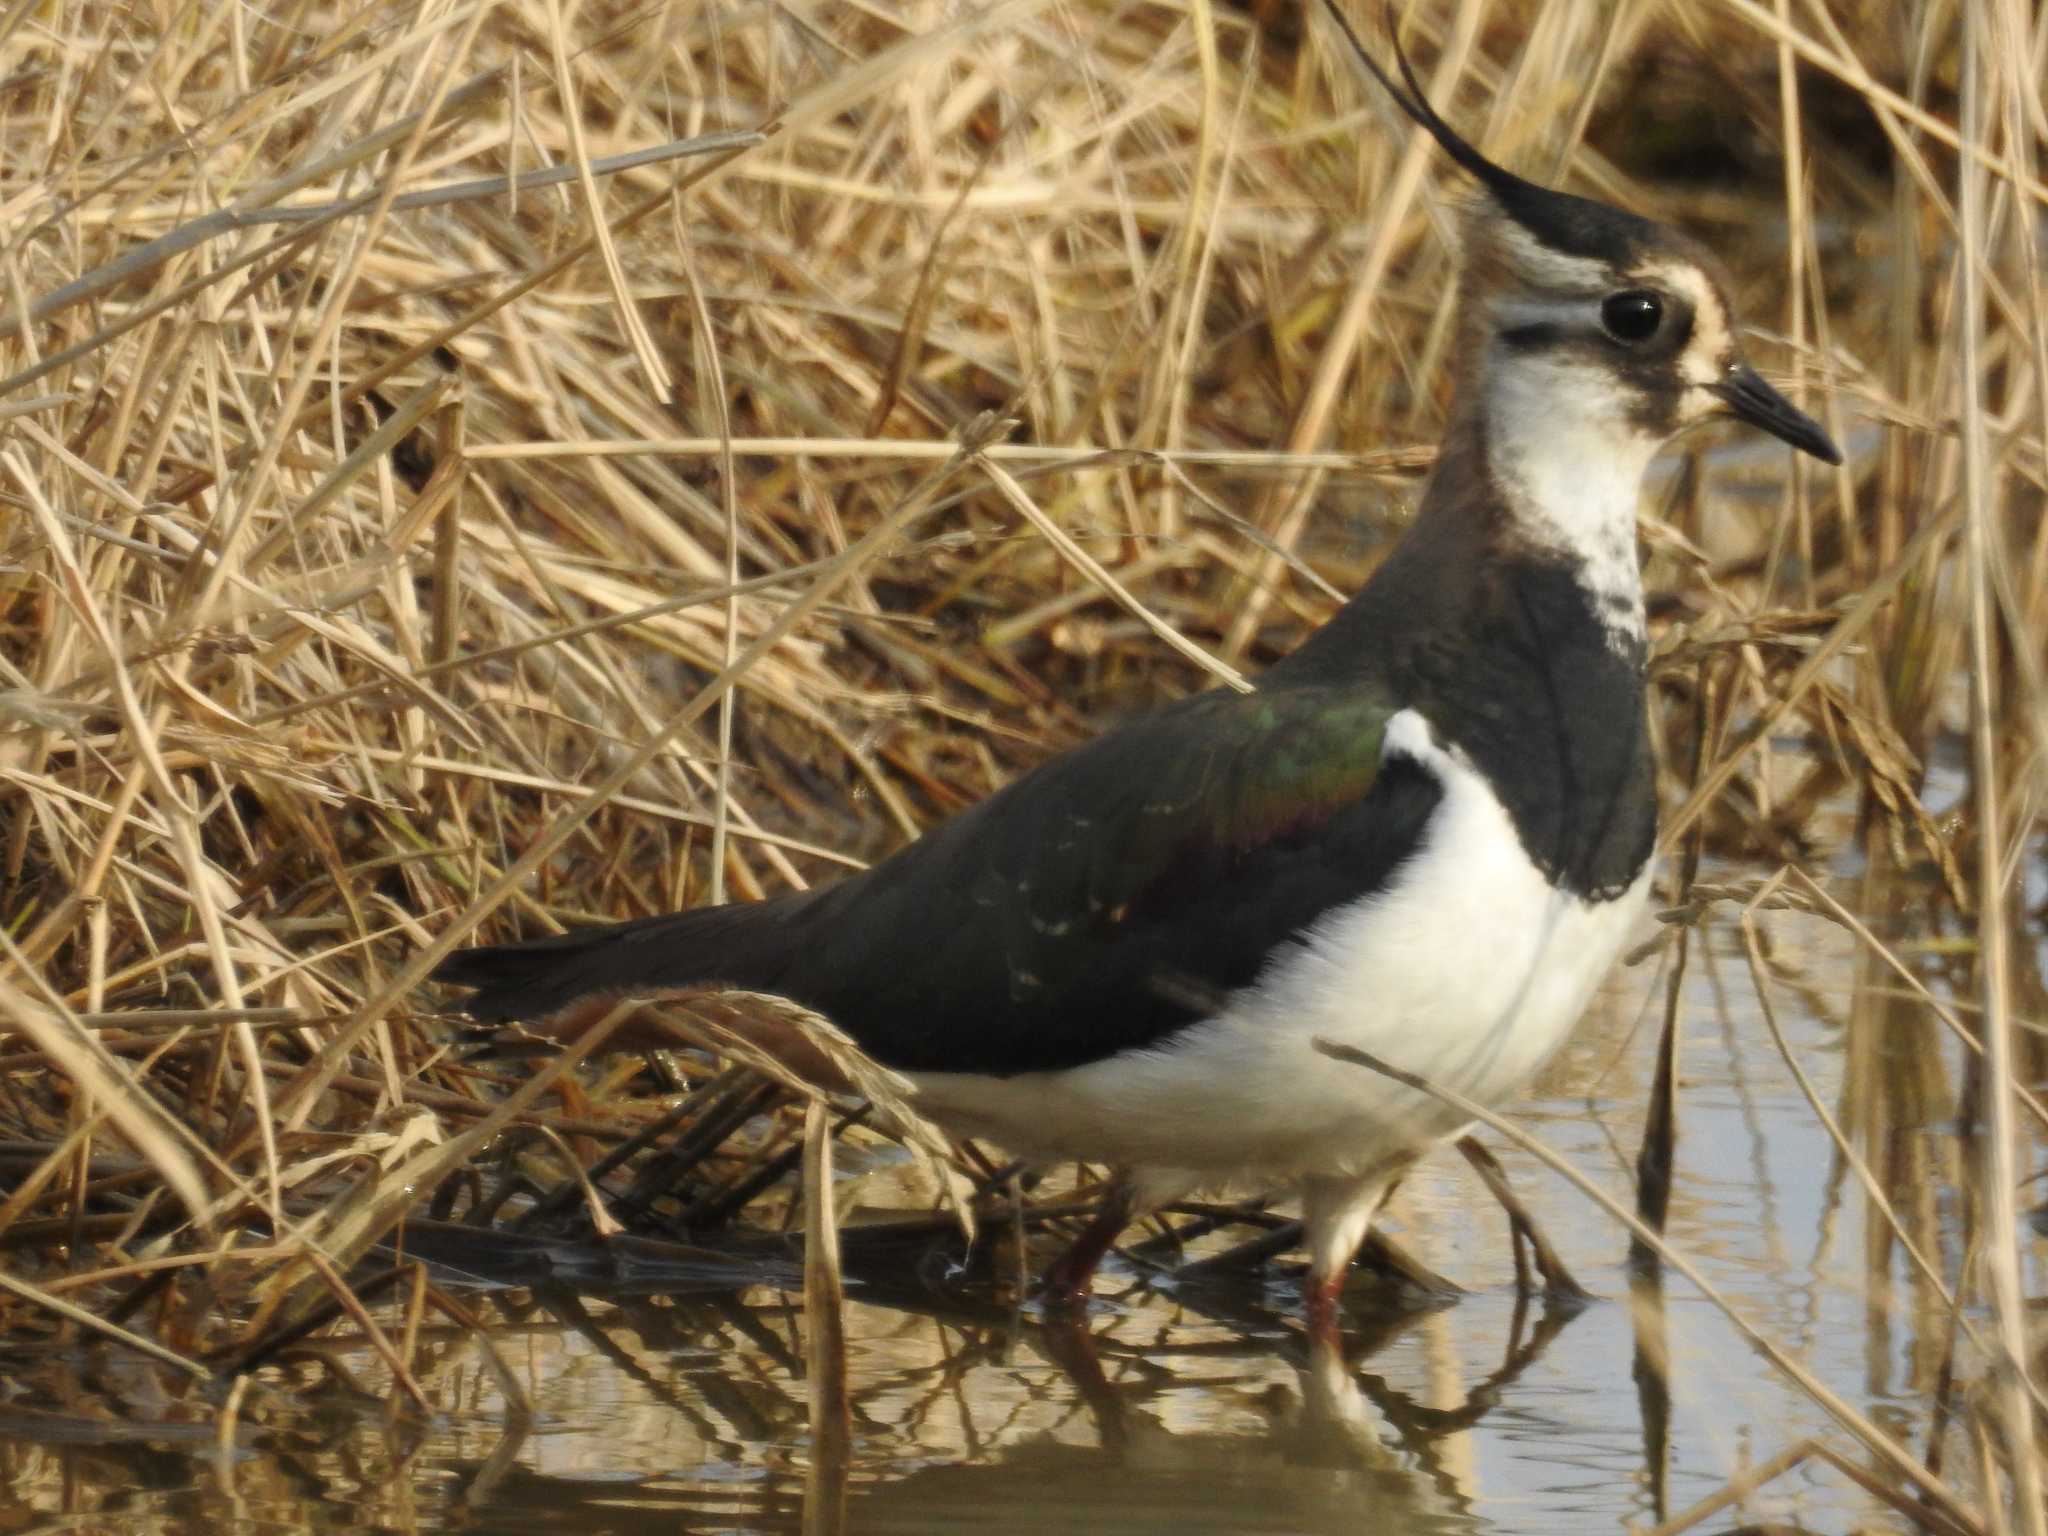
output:
[[[1550,889],[1487,782],[1413,711],[1389,756],[1444,782],[1395,881],[1329,911],[1229,1008],[1145,1051],[1018,1077],[915,1073],[920,1108],[1016,1153],[1186,1169],[1202,1180],[1366,1171],[1454,1133],[1458,1116],[1317,1053],[1356,1044],[1497,1104],[1563,1044],[1642,913]]]

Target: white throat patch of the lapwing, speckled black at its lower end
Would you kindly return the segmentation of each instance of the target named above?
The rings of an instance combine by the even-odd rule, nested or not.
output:
[[[1585,362],[1495,348],[1485,373],[1487,467],[1518,530],[1579,565],[1614,639],[1642,639],[1636,502],[1663,446],[1628,397]]]

